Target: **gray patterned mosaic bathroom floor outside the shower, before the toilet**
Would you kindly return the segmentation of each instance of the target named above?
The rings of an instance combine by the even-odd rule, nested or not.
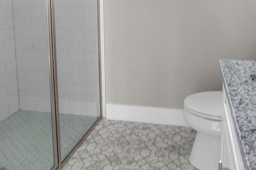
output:
[[[103,119],[62,170],[198,170],[190,127]]]

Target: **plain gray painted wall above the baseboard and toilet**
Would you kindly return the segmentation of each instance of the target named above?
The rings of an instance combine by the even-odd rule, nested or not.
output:
[[[256,1],[105,0],[106,102],[183,108],[222,90],[219,59],[256,59]]]

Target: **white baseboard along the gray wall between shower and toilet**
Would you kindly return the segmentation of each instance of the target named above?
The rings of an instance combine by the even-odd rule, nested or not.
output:
[[[182,109],[106,103],[106,119],[189,127]]]

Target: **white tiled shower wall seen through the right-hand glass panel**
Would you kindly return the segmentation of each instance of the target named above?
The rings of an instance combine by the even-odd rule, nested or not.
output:
[[[97,18],[91,10],[95,0],[72,3],[68,0],[55,1],[55,21],[58,61],[58,88],[60,112],[81,115],[96,115],[98,100],[97,83],[98,57],[92,55],[98,51],[95,35]],[[95,8],[96,9],[96,8]],[[88,92],[88,90],[90,92]],[[86,91],[86,92],[85,92]]]

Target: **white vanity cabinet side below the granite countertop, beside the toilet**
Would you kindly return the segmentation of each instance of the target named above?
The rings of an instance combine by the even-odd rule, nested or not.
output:
[[[231,109],[225,88],[222,89],[221,152],[222,169],[244,170],[238,138],[231,117]]]

